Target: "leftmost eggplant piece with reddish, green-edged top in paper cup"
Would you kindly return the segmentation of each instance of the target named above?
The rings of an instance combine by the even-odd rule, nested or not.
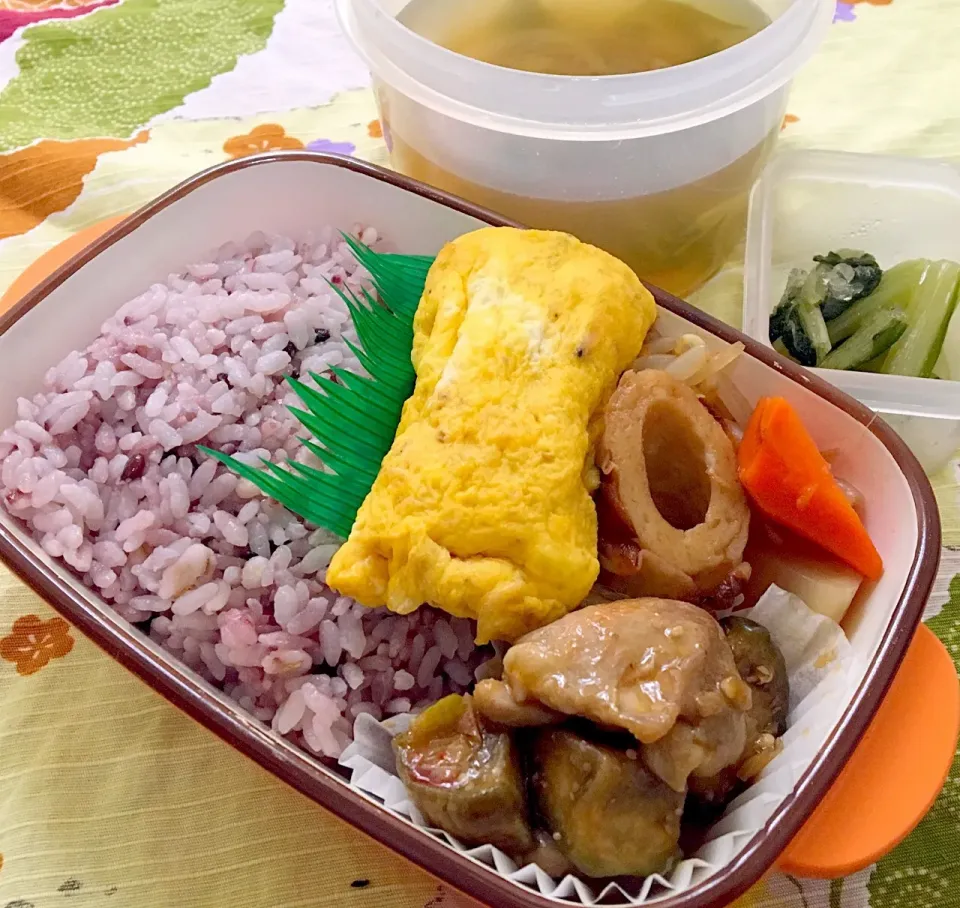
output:
[[[393,740],[397,772],[424,819],[465,845],[522,862],[537,847],[509,734],[485,725],[469,696],[433,704]]]

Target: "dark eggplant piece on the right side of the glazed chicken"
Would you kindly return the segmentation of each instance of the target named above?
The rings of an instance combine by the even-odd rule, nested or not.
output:
[[[705,777],[690,777],[690,790],[711,804],[722,804],[741,782],[756,778],[780,752],[780,736],[787,730],[790,682],[783,654],[770,632],[756,621],[730,615],[720,622],[733,652],[740,677],[750,686],[751,706],[746,714],[746,745],[733,766]]]

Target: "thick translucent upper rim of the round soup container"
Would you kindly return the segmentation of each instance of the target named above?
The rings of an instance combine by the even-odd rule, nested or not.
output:
[[[832,0],[758,0],[770,25],[682,66],[614,76],[555,76],[491,66],[400,24],[410,0],[337,0],[347,37],[370,69],[456,120],[513,135],[630,139],[687,129],[788,83],[819,46]]]

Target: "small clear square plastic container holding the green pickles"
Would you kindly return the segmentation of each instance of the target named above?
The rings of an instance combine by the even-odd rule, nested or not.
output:
[[[884,268],[914,258],[960,262],[960,171],[913,158],[778,154],[750,197],[744,332],[770,346],[770,312],[790,269],[841,247],[870,252]],[[960,382],[812,371],[881,414],[928,472],[960,448]]]

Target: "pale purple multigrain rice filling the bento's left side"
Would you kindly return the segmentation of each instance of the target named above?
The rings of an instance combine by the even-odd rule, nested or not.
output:
[[[361,235],[377,239],[371,227]],[[196,446],[254,465],[316,465],[283,379],[359,368],[327,280],[365,278],[331,230],[230,243],[121,306],[0,433],[0,499],[51,557],[326,757],[361,713],[382,718],[464,690],[488,653],[463,619],[391,615],[333,593],[323,574],[338,541]]]

